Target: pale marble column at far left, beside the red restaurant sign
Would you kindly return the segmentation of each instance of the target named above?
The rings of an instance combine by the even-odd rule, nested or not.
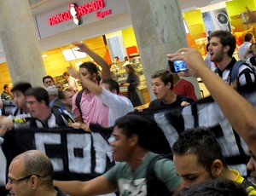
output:
[[[42,86],[46,72],[28,0],[1,2],[0,38],[12,83]]]

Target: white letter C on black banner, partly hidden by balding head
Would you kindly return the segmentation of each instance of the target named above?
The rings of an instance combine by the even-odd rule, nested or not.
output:
[[[36,148],[45,153],[45,144],[61,144],[61,134],[35,133]],[[59,158],[50,159],[55,171],[64,170],[63,160]]]

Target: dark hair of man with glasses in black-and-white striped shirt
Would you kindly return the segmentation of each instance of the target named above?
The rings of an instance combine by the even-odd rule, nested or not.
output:
[[[37,101],[44,101],[47,106],[49,105],[49,95],[47,90],[43,87],[34,87],[27,89],[24,94],[26,96],[32,95],[36,98]]]

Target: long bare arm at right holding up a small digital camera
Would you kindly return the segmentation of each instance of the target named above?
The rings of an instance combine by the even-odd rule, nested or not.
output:
[[[202,79],[225,117],[229,119],[230,124],[256,155],[256,110],[253,106],[212,72],[206,66],[201,54],[195,49],[180,49],[176,54],[167,56],[172,61],[183,60],[186,62],[189,72],[183,72],[180,75],[192,75]]]

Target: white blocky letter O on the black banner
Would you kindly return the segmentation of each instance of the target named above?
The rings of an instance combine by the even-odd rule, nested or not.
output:
[[[74,148],[83,151],[83,157],[74,156]],[[91,168],[90,134],[67,134],[68,167],[71,172],[90,174]]]

